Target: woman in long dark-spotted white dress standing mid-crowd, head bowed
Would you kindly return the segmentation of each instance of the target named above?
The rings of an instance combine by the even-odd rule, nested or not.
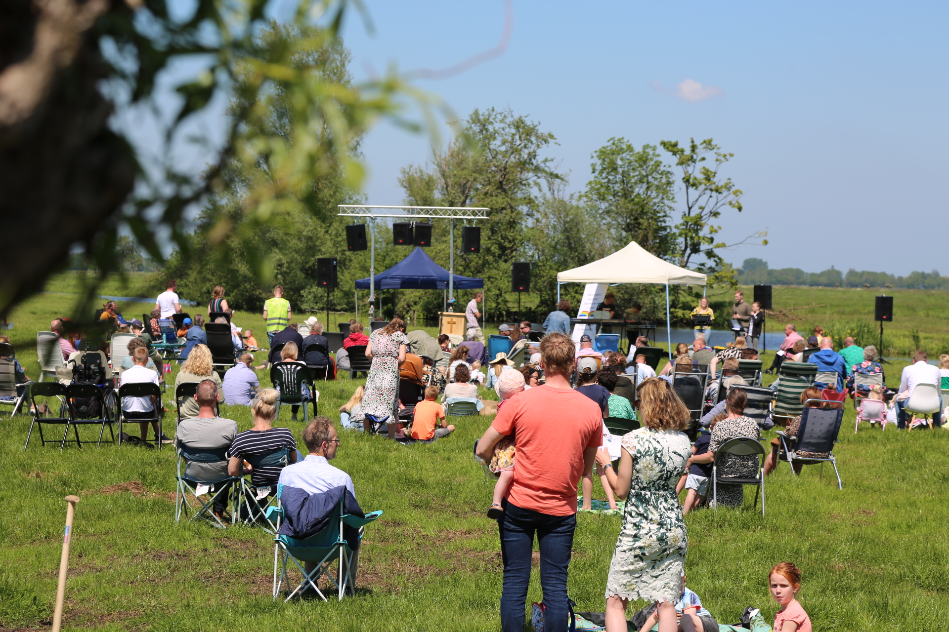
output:
[[[405,362],[405,345],[408,344],[403,329],[405,323],[393,318],[369,336],[365,347],[372,366],[363,391],[363,415],[373,415],[379,420],[388,417],[389,439],[396,438],[399,427],[399,366]]]

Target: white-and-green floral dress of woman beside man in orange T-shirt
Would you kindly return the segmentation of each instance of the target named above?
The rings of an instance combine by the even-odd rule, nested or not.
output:
[[[606,597],[675,604],[688,547],[676,483],[692,455],[689,438],[642,427],[623,436],[623,449],[633,457],[633,479]]]

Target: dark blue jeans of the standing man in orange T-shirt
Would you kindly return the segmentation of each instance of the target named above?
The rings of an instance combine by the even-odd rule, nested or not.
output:
[[[544,590],[545,632],[567,632],[567,569],[573,548],[577,515],[539,514],[503,502],[504,516],[497,521],[501,535],[504,587],[501,590],[501,630],[523,632],[524,610],[530,582],[534,533],[540,545],[540,585]]]

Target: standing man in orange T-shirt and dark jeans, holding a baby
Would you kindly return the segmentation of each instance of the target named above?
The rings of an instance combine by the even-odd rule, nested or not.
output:
[[[544,590],[544,629],[566,632],[567,571],[577,526],[577,484],[593,467],[603,439],[603,412],[593,400],[570,388],[573,341],[548,334],[540,343],[542,387],[514,395],[497,413],[477,444],[477,456],[490,461],[494,445],[513,434],[514,477],[502,502],[504,585],[501,629],[522,632],[530,582],[534,533],[540,545],[540,583]]]

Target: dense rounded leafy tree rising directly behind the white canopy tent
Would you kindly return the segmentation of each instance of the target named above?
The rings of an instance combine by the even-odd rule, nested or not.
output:
[[[592,157],[593,177],[584,197],[617,241],[633,241],[658,257],[669,256],[675,182],[656,147],[643,145],[637,150],[625,138],[610,138]]]

